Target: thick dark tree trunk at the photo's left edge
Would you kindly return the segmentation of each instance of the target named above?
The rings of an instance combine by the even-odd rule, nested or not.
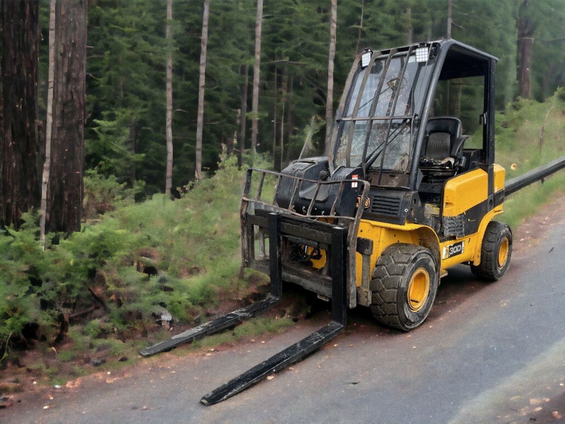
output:
[[[19,226],[40,204],[37,133],[38,0],[2,1],[2,219]]]

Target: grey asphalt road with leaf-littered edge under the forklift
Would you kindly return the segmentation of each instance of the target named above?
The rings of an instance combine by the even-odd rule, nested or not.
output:
[[[410,334],[386,330],[358,308],[344,334],[306,360],[223,403],[199,404],[322,326],[328,313],[320,311],[268,339],[207,355],[166,353],[24,396],[0,411],[0,422],[563,423],[565,201],[547,213],[525,227],[535,234],[516,232],[505,278],[485,284],[468,267],[451,270],[428,320]]]

